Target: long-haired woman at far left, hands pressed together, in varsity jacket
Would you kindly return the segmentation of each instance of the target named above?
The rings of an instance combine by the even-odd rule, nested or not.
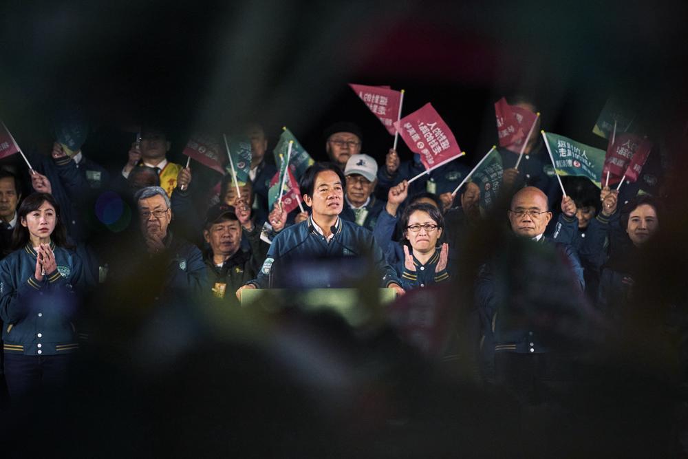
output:
[[[52,195],[29,195],[19,207],[14,252],[0,262],[5,378],[15,401],[64,385],[78,349],[82,264],[67,248],[59,213]]]

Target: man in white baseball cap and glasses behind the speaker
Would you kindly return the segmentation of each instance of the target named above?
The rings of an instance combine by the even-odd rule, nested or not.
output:
[[[377,174],[378,163],[375,159],[361,153],[352,155],[344,169],[346,205],[340,216],[370,231],[373,231],[378,215],[385,209],[385,202],[373,195]]]

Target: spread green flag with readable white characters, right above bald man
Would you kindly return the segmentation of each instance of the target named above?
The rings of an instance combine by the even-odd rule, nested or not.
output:
[[[606,152],[564,136],[541,131],[558,175],[580,175],[601,188]]]

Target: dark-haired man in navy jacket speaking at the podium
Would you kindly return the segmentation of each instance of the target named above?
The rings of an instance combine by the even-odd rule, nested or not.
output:
[[[303,201],[310,206],[310,217],[285,228],[272,240],[257,279],[248,281],[237,290],[239,299],[241,291],[247,288],[270,288],[275,280],[286,284],[283,278],[297,273],[284,267],[294,261],[365,255],[372,256],[381,286],[394,289],[397,295],[404,293],[373,233],[339,218],[344,205],[344,183],[341,169],[331,162],[316,162],[305,171],[300,188]]]

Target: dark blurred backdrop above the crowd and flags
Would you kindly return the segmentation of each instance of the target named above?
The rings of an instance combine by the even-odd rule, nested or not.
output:
[[[433,103],[473,163],[510,94],[533,98],[545,129],[595,147],[611,94],[643,134],[686,120],[678,0],[16,1],[1,17],[0,118],[19,145],[49,153],[52,113],[78,103],[92,120],[84,151],[113,170],[142,119],[171,127],[178,162],[190,131],[248,120],[265,125],[269,151],[287,125],[316,159],[323,129],[354,120],[382,161],[392,138],[347,83],[406,89],[403,114]]]

